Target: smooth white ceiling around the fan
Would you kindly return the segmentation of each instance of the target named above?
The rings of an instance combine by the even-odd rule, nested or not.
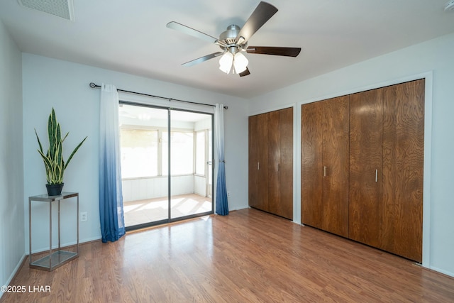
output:
[[[224,74],[217,58],[182,67],[220,48],[166,24],[217,37],[231,23],[243,26],[258,0],[74,0],[74,21],[1,0],[0,18],[25,53],[250,98],[453,33],[447,1],[268,0],[279,11],[248,44],[302,50],[296,58],[246,54],[246,77]]]

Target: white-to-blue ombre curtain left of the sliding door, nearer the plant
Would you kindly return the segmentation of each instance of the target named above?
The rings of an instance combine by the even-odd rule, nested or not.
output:
[[[104,83],[101,85],[99,115],[99,219],[104,243],[117,241],[125,234],[118,136],[118,92],[114,85]]]

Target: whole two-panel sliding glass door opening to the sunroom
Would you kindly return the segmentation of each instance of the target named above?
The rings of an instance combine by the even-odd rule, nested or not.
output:
[[[213,115],[122,103],[119,119],[126,229],[213,214]]]

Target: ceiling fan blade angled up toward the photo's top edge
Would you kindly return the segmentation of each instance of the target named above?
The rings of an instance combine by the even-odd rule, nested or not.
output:
[[[252,15],[250,15],[243,28],[241,28],[240,33],[236,36],[236,42],[240,40],[240,37],[243,37],[241,38],[240,43],[248,41],[249,38],[252,37],[252,35],[258,31],[263,24],[270,20],[275,13],[277,13],[275,6],[261,1],[255,11],[253,11]]]

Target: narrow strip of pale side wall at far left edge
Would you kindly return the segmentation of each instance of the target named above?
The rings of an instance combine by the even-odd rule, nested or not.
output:
[[[25,252],[22,137],[21,52],[0,21],[0,285]]]

